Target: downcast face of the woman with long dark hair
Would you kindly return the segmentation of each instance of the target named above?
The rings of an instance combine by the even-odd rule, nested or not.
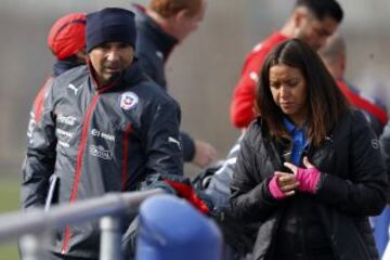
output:
[[[283,64],[272,66],[270,89],[282,112],[296,125],[303,125],[308,112],[308,88],[301,70]]]

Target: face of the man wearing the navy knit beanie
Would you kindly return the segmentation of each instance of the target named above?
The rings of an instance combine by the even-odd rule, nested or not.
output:
[[[123,42],[106,42],[89,53],[100,87],[109,82],[129,67],[134,57],[134,49]]]

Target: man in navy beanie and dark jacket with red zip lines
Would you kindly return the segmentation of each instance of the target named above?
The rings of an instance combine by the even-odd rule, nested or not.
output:
[[[104,9],[87,16],[88,66],[57,77],[23,166],[23,208],[41,207],[58,177],[57,203],[135,191],[147,176],[182,174],[180,108],[145,79],[134,58],[134,14]],[[98,259],[96,223],[67,226],[53,257]]]

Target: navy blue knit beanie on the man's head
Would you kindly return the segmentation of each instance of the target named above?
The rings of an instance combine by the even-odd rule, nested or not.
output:
[[[87,15],[87,52],[105,42],[125,42],[135,48],[134,13],[119,8],[106,8]]]

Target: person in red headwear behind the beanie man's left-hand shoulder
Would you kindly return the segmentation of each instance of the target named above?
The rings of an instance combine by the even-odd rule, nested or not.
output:
[[[48,47],[55,56],[52,73],[38,91],[30,112],[28,138],[41,119],[44,98],[54,78],[70,68],[86,64],[86,13],[69,13],[52,25],[48,35]]]

